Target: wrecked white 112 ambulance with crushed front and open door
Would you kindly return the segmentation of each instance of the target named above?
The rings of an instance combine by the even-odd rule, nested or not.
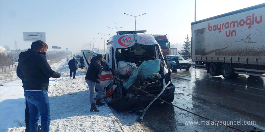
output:
[[[175,86],[169,76],[171,71],[154,36],[145,32],[121,31],[107,41],[100,84],[104,86],[101,98],[112,98],[108,104],[139,108],[154,99],[132,85],[167,102],[173,101]],[[88,68],[96,54],[89,50],[81,52]]]

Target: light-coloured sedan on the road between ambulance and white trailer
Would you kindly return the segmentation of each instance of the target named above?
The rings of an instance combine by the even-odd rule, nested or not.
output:
[[[180,55],[166,55],[166,56],[164,56],[164,58],[167,61],[167,66],[170,67],[170,69],[172,71],[177,70],[176,61],[174,60],[174,58],[176,58],[176,57],[178,57],[181,68],[189,70],[189,68],[191,67],[191,63],[189,61],[186,61]]]

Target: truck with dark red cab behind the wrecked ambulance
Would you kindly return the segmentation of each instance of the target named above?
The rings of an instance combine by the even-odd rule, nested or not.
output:
[[[161,46],[163,55],[170,55],[170,42],[168,41],[167,35],[153,35],[154,39]]]

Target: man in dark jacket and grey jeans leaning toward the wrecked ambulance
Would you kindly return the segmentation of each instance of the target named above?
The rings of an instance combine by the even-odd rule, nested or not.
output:
[[[100,98],[103,93],[104,87],[101,84],[99,84],[101,72],[103,70],[103,66],[101,65],[102,61],[103,61],[102,54],[98,54],[97,56],[93,57],[86,72],[85,80],[89,87],[89,101],[91,104],[90,108],[91,112],[93,111],[99,112],[95,105],[101,106],[105,104],[101,102]],[[94,102],[93,98],[95,95],[95,88],[98,89],[98,97],[96,103]]]

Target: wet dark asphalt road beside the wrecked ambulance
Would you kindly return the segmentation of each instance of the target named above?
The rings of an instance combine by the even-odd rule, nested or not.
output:
[[[174,105],[216,121],[241,121],[242,125],[230,125],[244,131],[254,127],[265,131],[265,78],[239,74],[225,79],[193,67],[173,72],[171,78],[176,86]],[[185,121],[198,121],[198,125],[185,125]],[[237,132],[217,124],[200,125],[201,121],[209,122],[164,103],[153,104],[141,124],[154,132]],[[243,125],[244,121],[256,125]]]

